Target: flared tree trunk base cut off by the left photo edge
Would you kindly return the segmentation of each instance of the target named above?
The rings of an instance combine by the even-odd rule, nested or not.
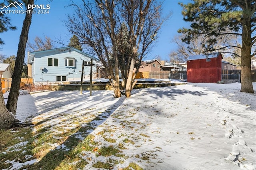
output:
[[[2,83],[0,83],[0,129],[10,128],[14,122],[14,115],[10,113],[5,106]]]

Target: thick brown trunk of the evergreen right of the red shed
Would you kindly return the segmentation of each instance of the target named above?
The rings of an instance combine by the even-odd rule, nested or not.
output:
[[[246,18],[247,19],[247,18]],[[251,51],[252,51],[252,29],[250,18],[245,20],[242,26],[242,50],[241,50],[241,92],[254,93],[252,86]]]

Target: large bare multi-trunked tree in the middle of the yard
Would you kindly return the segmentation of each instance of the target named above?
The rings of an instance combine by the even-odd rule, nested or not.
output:
[[[120,56],[126,57],[125,63],[129,67],[125,69],[127,74],[124,75],[125,95],[129,97],[136,83],[135,75],[133,76],[136,58],[139,58],[140,63],[152,47],[162,25],[161,3],[152,0],[95,0],[87,3],[83,0],[82,5],[73,2],[71,6],[76,8],[75,14],[69,15],[65,24],[72,34],[99,57],[106,69],[115,97],[121,96]],[[126,50],[120,50],[120,42],[126,41],[119,34],[122,32],[122,24],[125,25],[123,28],[128,29],[126,38],[130,45],[126,46]]]

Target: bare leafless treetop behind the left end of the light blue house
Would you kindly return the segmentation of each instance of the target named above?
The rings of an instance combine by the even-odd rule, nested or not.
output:
[[[42,51],[46,49],[52,49],[53,47],[53,41],[50,39],[50,37],[47,36],[44,37],[44,40],[36,36],[34,43],[29,41],[27,43],[27,51]]]

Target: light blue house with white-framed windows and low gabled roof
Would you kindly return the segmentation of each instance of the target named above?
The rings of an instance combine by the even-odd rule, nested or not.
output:
[[[82,61],[90,64],[92,77],[97,77],[98,59],[74,47],[61,47],[44,51],[28,52],[28,76],[34,83],[62,83],[81,80]],[[90,79],[90,66],[84,67],[83,79]]]

